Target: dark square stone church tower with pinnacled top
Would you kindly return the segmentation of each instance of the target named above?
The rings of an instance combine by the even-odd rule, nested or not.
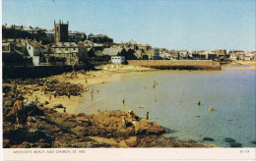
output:
[[[68,42],[69,22],[67,24],[63,24],[63,22],[59,21],[59,24],[56,24],[54,21],[54,27],[54,44],[57,44],[58,42]]]

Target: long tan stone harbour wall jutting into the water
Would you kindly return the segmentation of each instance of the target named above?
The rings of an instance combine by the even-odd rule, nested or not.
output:
[[[221,70],[220,62],[213,60],[128,60],[128,64],[171,70]]]

